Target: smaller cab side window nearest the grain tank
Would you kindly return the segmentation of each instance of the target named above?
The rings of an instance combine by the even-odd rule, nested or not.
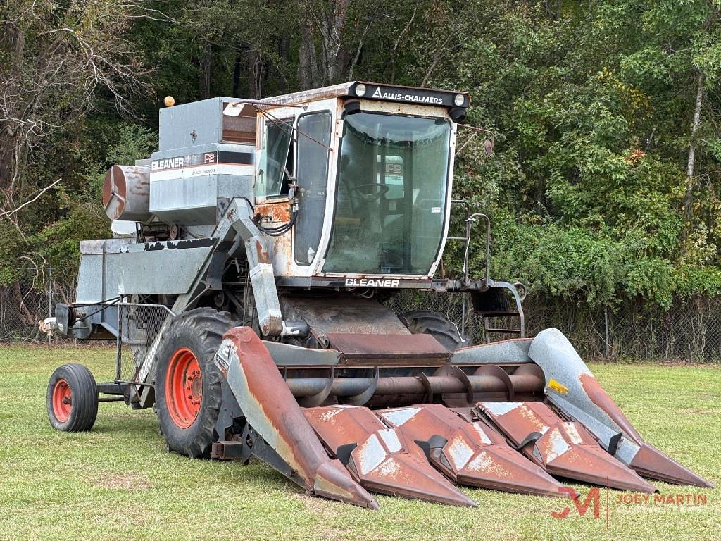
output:
[[[292,171],[293,119],[268,120],[258,160],[255,195],[273,197],[288,193],[286,167]]]

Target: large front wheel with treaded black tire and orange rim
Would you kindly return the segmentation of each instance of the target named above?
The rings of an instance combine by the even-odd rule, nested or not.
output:
[[[213,358],[234,322],[226,312],[198,308],[177,317],[155,356],[155,410],[168,449],[206,457],[216,440],[223,376]]]

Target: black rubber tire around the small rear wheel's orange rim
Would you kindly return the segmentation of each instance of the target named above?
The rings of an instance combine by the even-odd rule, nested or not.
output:
[[[66,421],[60,421],[53,410],[53,390],[64,379],[72,393],[72,408]],[[50,425],[63,432],[89,431],[97,418],[97,383],[87,366],[77,363],[58,366],[48,382],[46,397]]]

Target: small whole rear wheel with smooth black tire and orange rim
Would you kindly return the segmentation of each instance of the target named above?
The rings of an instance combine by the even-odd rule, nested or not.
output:
[[[97,384],[82,364],[63,364],[48,382],[50,425],[63,432],[90,430],[97,418]]]

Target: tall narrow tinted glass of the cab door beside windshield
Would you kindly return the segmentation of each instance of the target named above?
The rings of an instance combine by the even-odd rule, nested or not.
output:
[[[327,112],[298,117],[298,218],[294,249],[298,265],[313,261],[323,232],[331,120]]]

